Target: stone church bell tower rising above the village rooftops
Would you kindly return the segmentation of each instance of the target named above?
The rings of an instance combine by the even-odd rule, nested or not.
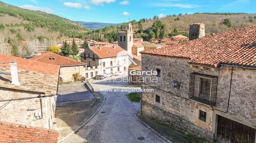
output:
[[[132,23],[127,25],[126,32],[118,32],[118,46],[127,50],[128,53],[132,53],[133,47],[133,28]]]

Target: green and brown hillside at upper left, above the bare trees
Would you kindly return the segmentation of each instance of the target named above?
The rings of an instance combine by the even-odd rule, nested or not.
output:
[[[1,37],[13,37],[17,33],[24,40],[50,38],[61,40],[65,37],[84,37],[90,31],[81,24],[54,14],[33,11],[0,2]]]

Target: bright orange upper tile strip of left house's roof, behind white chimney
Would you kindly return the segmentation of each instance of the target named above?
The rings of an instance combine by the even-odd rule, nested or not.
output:
[[[40,72],[44,74],[58,74],[59,73],[59,66],[46,64],[46,63],[40,63],[37,61],[31,61],[23,58],[18,58],[16,56],[6,55],[6,54],[0,54],[0,62],[4,63],[0,66],[3,67],[10,67],[9,63],[10,60],[16,60],[17,62],[17,69],[24,69],[27,71],[34,71],[34,72]]]

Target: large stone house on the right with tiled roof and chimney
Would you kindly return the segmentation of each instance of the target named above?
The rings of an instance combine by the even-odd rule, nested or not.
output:
[[[157,81],[142,83],[154,92],[142,92],[141,113],[209,140],[253,143],[256,26],[202,37],[200,25],[190,25],[194,40],[141,52],[142,71],[157,73],[143,75]]]

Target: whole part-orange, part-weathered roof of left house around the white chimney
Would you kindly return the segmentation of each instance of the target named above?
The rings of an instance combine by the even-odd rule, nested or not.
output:
[[[56,95],[59,66],[0,54],[0,71],[11,73],[9,62],[16,60],[20,85],[10,84],[11,75],[0,74],[0,87]]]

